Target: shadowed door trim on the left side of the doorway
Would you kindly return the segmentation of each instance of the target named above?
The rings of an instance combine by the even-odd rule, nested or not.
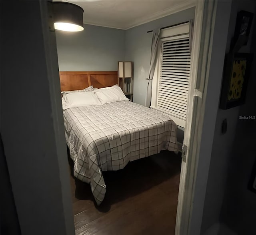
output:
[[[44,37],[44,50],[46,56],[47,75],[49,82],[50,99],[52,106],[52,121],[55,133],[56,157],[59,165],[60,184],[62,190],[63,211],[65,231],[67,235],[74,235],[74,217],[72,210],[71,187],[68,174],[68,157],[66,150],[66,139],[64,132],[64,119],[62,104],[60,100],[60,75],[58,69],[58,53],[54,23],[52,21],[52,2],[40,2],[42,28]]]

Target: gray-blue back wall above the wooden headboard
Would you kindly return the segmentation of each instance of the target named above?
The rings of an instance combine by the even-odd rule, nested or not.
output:
[[[125,30],[84,24],[81,32],[56,30],[60,71],[116,71],[124,60]]]

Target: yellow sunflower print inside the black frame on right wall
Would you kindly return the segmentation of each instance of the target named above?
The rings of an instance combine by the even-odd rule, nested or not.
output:
[[[228,101],[241,98],[246,70],[246,60],[235,60],[228,92]]]

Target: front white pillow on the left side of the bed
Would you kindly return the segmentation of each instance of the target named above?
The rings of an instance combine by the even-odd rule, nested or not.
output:
[[[75,92],[62,97],[63,110],[90,105],[101,105],[94,92]]]

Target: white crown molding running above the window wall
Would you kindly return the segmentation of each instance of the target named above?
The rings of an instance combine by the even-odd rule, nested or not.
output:
[[[165,10],[162,10],[160,12],[156,12],[154,14],[151,14],[150,16],[146,16],[143,18],[140,18],[140,20],[136,20],[134,21],[133,24],[130,24],[130,26],[127,26],[126,28],[124,28],[125,30],[128,30],[130,28],[134,28],[136,26],[139,26],[141,24],[146,24],[148,22],[151,22],[153,20],[157,20],[160,18],[163,18],[165,16],[169,16],[171,14],[180,12],[182,10],[186,10],[188,8],[192,8],[196,6],[196,1],[195,0],[188,0],[186,2],[181,2],[180,4],[177,4],[176,6],[167,8]]]

